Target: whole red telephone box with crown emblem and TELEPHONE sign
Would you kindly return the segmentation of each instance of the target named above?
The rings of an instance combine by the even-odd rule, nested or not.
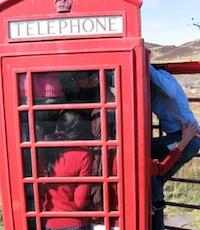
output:
[[[7,230],[148,230],[142,0],[0,1]]]

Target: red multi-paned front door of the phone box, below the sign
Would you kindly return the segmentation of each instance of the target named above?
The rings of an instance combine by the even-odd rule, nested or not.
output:
[[[129,51],[3,58],[13,229],[139,229],[134,63]]]

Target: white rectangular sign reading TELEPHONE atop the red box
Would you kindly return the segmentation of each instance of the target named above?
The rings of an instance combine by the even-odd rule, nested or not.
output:
[[[10,39],[122,34],[123,17],[98,16],[9,22]]]

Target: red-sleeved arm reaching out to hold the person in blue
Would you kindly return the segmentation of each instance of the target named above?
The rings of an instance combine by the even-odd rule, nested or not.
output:
[[[179,160],[183,150],[196,134],[197,128],[193,124],[189,124],[182,130],[182,139],[176,145],[175,149],[169,152],[169,155],[164,157],[161,161],[152,159],[151,168],[153,176],[162,176],[169,171],[173,165]]]

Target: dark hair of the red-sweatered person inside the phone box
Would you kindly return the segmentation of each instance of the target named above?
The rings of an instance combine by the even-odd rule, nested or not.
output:
[[[87,133],[84,125],[84,118],[76,111],[63,110],[56,124],[57,140],[81,140],[84,133]],[[53,152],[52,152],[53,150]],[[45,174],[54,175],[54,164],[63,155],[63,148],[53,148],[46,154]]]

